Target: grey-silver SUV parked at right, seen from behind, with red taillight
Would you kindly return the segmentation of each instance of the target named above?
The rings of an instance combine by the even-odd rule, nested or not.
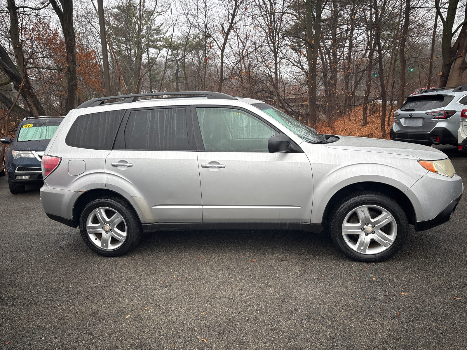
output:
[[[425,89],[394,112],[391,140],[426,146],[458,146],[460,114],[467,105],[467,85]]]

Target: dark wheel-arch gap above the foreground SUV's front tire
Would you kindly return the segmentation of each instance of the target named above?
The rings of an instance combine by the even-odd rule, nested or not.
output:
[[[405,212],[409,224],[415,223],[416,219],[413,204],[410,202],[409,197],[407,197],[405,193],[403,193],[403,191],[387,183],[371,181],[352,183],[347,186],[344,186],[343,188],[339,189],[336,193],[334,193],[334,195],[331,197],[331,199],[325,206],[322,221],[329,218],[329,215],[331,214],[337,203],[339,203],[343,198],[347,197],[352,193],[361,191],[380,192],[383,195],[394,199],[396,203],[399,204],[402,210]]]

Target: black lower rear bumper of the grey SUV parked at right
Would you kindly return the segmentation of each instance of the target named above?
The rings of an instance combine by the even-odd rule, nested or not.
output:
[[[453,145],[457,146],[457,137],[445,127],[435,127],[430,133],[417,133],[406,131],[390,131],[391,140],[418,143],[421,145]]]

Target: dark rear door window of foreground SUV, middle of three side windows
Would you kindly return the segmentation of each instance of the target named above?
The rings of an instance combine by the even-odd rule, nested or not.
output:
[[[125,127],[127,149],[188,150],[184,108],[133,111]]]

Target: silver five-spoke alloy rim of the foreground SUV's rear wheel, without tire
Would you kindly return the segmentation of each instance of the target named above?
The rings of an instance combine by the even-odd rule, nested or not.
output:
[[[92,210],[86,219],[89,240],[105,250],[120,247],[127,239],[127,223],[116,210],[99,207]]]

